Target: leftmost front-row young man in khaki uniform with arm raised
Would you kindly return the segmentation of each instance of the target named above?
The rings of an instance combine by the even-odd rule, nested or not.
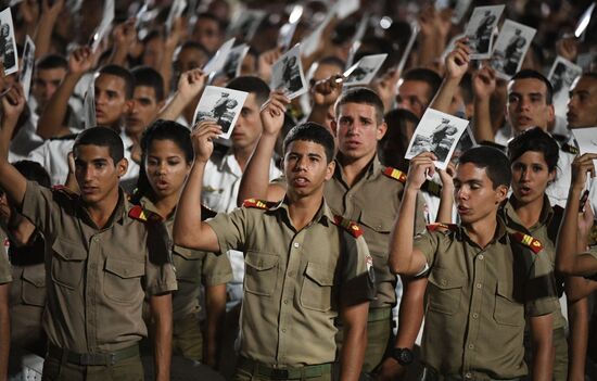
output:
[[[10,96],[13,104],[23,97]],[[81,132],[74,144],[80,196],[27,181],[0,141],[0,187],[46,238],[47,380],[142,380],[137,342],[147,335],[145,293],[155,321],[156,379],[169,378],[170,291],[176,277],[167,232],[118,188],[127,170],[118,135]]]

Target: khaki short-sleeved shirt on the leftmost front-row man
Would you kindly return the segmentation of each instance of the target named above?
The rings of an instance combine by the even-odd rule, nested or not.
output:
[[[81,201],[27,181],[22,214],[46,238],[49,341],[77,353],[112,352],[147,335],[145,293],[176,290],[167,232],[161,223],[129,216],[120,190],[99,229]]]

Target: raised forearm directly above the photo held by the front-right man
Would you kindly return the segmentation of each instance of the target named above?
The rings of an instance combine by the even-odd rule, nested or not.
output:
[[[462,76],[467,73],[470,62],[470,48],[467,45],[468,38],[462,37],[456,41],[454,50],[446,56],[446,74],[437,94],[431,102],[431,109],[444,113],[449,112],[449,105]]]

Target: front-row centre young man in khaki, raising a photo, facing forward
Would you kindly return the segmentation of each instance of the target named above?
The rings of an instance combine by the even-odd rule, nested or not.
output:
[[[281,127],[280,97],[275,93],[262,112],[265,125]],[[331,380],[334,318],[340,317],[345,339],[340,378],[358,380],[374,272],[361,230],[334,216],[323,200],[323,183],[334,169],[332,136],[316,124],[295,127],[284,140],[287,198],[279,203],[247,201],[243,208],[202,223],[196,194],[212,139],[220,131],[205,122],[193,132],[195,162],[180,198],[174,240],[211,252],[246,253],[234,379]]]

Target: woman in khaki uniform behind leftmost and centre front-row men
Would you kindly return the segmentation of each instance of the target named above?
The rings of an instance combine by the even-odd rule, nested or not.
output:
[[[141,139],[142,161],[134,202],[162,216],[172,236],[180,190],[193,161],[189,129],[175,122],[157,120]],[[202,215],[213,217],[204,208]],[[226,283],[232,269],[226,255],[216,256],[175,245],[173,259],[178,291],[173,294],[173,350],[180,356],[216,367],[219,323],[226,307]],[[205,285],[206,343],[200,321],[200,288]],[[205,352],[203,348],[205,347]]]

